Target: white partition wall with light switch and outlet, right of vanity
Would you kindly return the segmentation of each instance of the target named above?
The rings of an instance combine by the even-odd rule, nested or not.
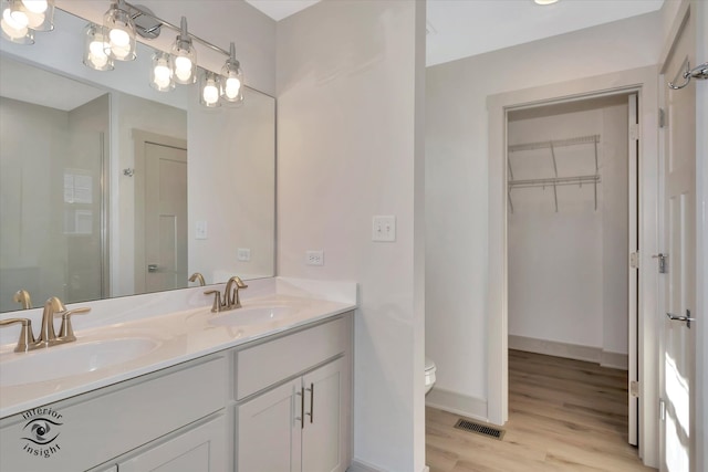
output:
[[[278,24],[278,273],[358,282],[354,455],[382,471],[424,468],[424,2]],[[372,242],[374,214],[396,216],[394,243]]]

